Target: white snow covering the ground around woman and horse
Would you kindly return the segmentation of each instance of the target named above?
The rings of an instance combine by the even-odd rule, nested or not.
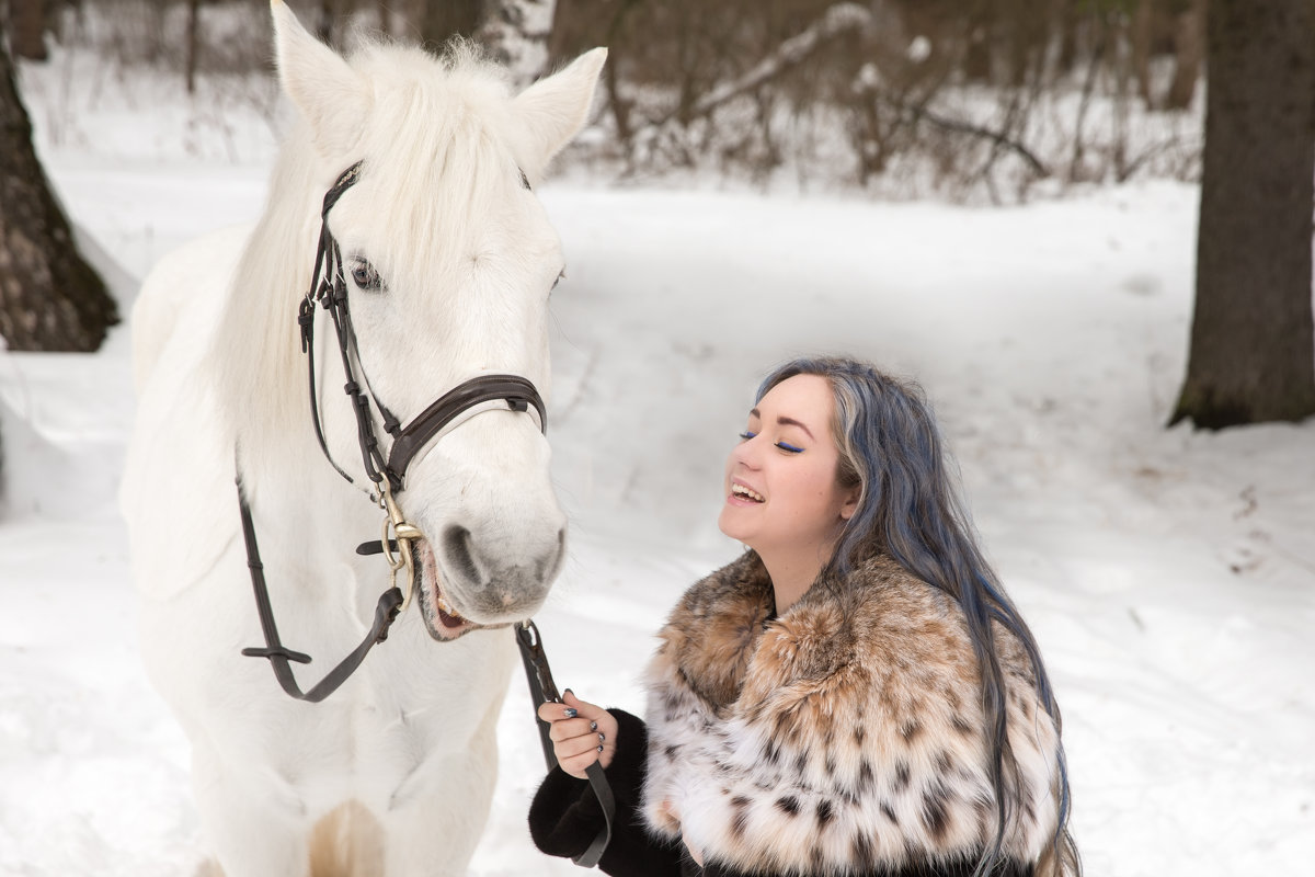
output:
[[[126,316],[163,252],[258,214],[270,114],[233,109],[226,133],[196,137],[214,100],[181,83],[70,97],[71,63],[25,68],[22,88]],[[642,710],[664,614],[738,551],[715,513],[756,379],[849,351],[936,404],[1064,707],[1088,873],[1310,873],[1315,421],[1165,429],[1193,187],[977,209],[569,179],[540,191],[568,254],[550,419],[571,557],[538,617],[560,685]],[[180,874],[204,856],[187,742],[139,664],[114,506],[129,331],[96,355],[0,354],[3,876]],[[575,873],[529,843],[542,761],[519,680],[498,739],[471,874]]]

